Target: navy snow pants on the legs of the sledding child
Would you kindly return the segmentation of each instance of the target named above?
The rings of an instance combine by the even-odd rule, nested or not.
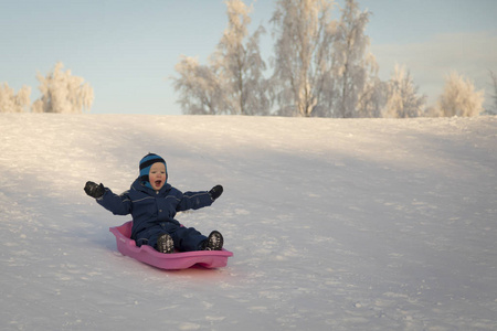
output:
[[[181,252],[200,250],[207,236],[193,227],[184,227],[172,222],[161,222],[141,231],[136,237],[136,245],[149,245],[157,249],[157,239],[162,234],[169,234],[175,242],[175,248]]]

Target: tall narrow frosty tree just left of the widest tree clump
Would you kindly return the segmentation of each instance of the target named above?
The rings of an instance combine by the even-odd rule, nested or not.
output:
[[[261,57],[260,26],[248,36],[251,23],[248,8],[241,0],[225,1],[228,29],[212,56],[213,65],[221,75],[228,114],[267,115],[269,111],[268,85],[263,76],[266,68]]]

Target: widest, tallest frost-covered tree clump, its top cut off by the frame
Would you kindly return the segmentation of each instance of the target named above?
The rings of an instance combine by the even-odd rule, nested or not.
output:
[[[277,2],[272,18],[277,39],[274,81],[282,115],[380,113],[382,86],[364,34],[370,13],[360,12],[357,1],[346,0],[336,21],[332,4],[328,0]]]

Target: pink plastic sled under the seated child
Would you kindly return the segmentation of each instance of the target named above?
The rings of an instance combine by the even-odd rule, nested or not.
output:
[[[133,221],[120,226],[110,227],[109,231],[116,236],[117,250],[120,254],[133,257],[139,261],[167,270],[186,269],[194,265],[205,268],[222,268],[228,264],[228,258],[233,253],[223,250],[195,250],[162,254],[148,245],[137,247],[131,236]]]

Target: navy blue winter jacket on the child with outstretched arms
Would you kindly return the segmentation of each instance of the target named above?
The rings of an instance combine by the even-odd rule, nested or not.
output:
[[[98,204],[115,215],[133,216],[131,238],[136,234],[161,222],[172,222],[176,213],[187,210],[198,210],[212,204],[209,192],[184,192],[166,183],[160,191],[155,191],[141,184],[137,179],[130,190],[117,195],[105,188],[105,193],[96,200]]]

